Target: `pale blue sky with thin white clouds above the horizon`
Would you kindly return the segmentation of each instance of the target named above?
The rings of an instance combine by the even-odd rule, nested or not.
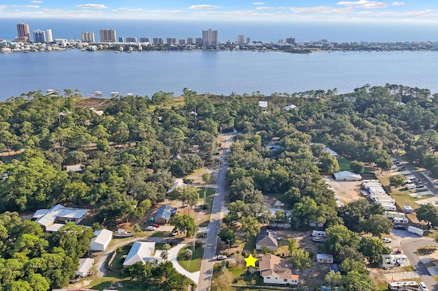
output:
[[[438,23],[438,1],[0,0],[0,18]]]

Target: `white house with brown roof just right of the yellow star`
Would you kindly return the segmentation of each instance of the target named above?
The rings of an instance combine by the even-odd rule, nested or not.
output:
[[[259,272],[263,283],[298,285],[298,275],[292,274],[285,260],[276,255],[263,255],[259,260]]]

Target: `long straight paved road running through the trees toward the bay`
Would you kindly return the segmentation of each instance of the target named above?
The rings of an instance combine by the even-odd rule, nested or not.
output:
[[[233,134],[222,135],[227,139],[222,152],[222,161],[219,169],[218,180],[216,182],[216,194],[214,196],[213,207],[211,208],[210,223],[207,238],[204,244],[204,255],[201,265],[201,275],[198,281],[197,291],[207,291],[211,286],[213,275],[213,265],[216,262],[216,246],[218,243],[218,232],[222,221],[222,203],[224,202],[225,174],[228,170],[229,147],[233,141]]]

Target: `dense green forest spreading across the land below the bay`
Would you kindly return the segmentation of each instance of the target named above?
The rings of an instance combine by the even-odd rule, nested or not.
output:
[[[383,212],[366,205],[337,208],[320,173],[339,166],[324,146],[362,170],[365,163],[389,169],[390,154],[401,151],[407,161],[438,176],[438,94],[428,89],[387,84],[348,94],[332,89],[271,96],[184,89],[183,104],[166,92],[121,96],[105,102],[103,115],[78,106],[83,99],[78,92],[65,92],[29,92],[0,103],[4,290],[66,286],[92,238],[91,230],[70,224],[62,230],[68,236],[44,234],[18,213],[63,204],[93,209],[96,221],[107,227],[142,219],[165,199],[175,177],[210,165],[221,146],[216,138],[234,129],[227,174],[231,204],[222,234],[231,236],[242,225],[246,236],[254,235],[258,223],[269,219],[263,195],[278,197],[292,210],[292,227],[305,229],[310,221],[329,227],[326,251],[345,262],[344,277],[333,281],[346,290],[359,290],[354,283],[366,277],[351,258],[378,259],[369,251],[374,242],[359,243],[357,232],[375,232],[367,225]],[[261,100],[268,101],[266,110],[259,107]],[[298,109],[285,110],[290,104]],[[273,138],[280,143],[276,152],[266,148]],[[178,153],[183,157],[172,161]],[[66,165],[75,164],[84,165],[81,173],[66,172]],[[369,211],[359,217],[348,207]],[[378,236],[387,229],[379,231]]]

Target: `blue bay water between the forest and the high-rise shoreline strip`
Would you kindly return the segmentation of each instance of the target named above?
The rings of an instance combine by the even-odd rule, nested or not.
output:
[[[398,84],[438,92],[436,51],[80,51],[0,54],[0,100],[41,89],[152,96],[155,92],[261,94]]]

